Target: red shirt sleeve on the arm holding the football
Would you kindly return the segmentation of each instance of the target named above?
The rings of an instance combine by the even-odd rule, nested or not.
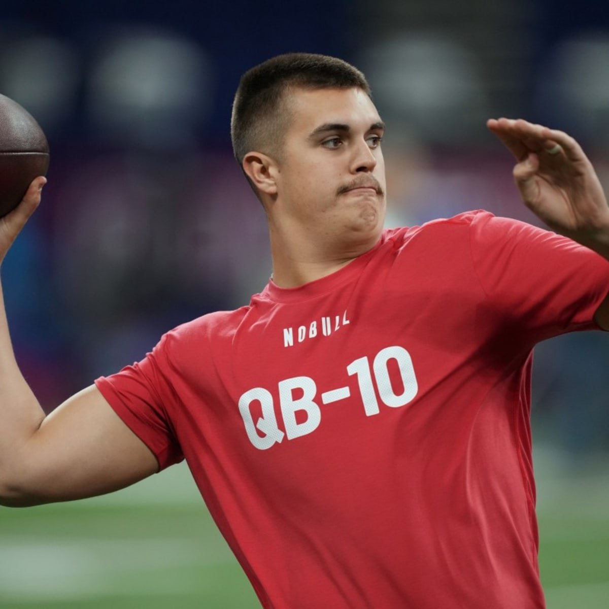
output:
[[[163,348],[161,339],[141,362],[95,381],[116,414],[157,457],[159,471],[184,458],[167,415],[175,396],[158,366]]]

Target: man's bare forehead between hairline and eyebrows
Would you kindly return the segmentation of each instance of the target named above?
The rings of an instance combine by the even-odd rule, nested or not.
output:
[[[337,123],[369,129],[381,118],[368,94],[359,88],[303,89],[288,94],[290,130],[311,132],[319,125]]]

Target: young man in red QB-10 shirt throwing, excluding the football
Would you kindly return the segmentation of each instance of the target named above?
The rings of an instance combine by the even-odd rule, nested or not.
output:
[[[609,208],[568,135],[488,127],[524,203],[570,239],[482,211],[383,231],[384,125],[362,74],[306,54],[247,72],[233,143],[272,280],[46,418],[2,320],[4,504],[186,459],[264,607],[544,607],[530,354],[609,327]],[[2,255],[43,183],[2,219]]]

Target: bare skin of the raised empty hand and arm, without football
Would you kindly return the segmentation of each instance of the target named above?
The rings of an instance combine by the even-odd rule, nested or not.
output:
[[[524,204],[557,233],[609,260],[609,206],[577,141],[522,119],[491,119],[487,126],[516,159],[514,178]],[[609,297],[595,319],[609,330]]]

